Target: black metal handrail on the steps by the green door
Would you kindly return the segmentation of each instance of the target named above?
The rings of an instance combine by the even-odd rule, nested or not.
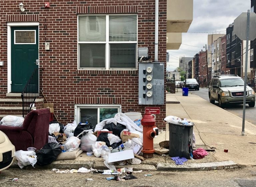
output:
[[[36,98],[42,96],[42,73],[42,68],[36,68],[21,93],[23,118],[30,112]]]

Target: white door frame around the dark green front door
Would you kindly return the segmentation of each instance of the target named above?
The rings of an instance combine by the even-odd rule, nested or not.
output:
[[[7,93],[11,93],[11,27],[37,26],[38,27],[38,43],[39,43],[39,22],[8,22],[7,23]],[[39,59],[39,44],[38,44]],[[40,68],[40,63],[38,65]]]

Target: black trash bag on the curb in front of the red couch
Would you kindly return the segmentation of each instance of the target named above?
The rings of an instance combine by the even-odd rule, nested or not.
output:
[[[46,143],[43,148],[36,150],[37,155],[37,165],[44,166],[52,163],[58,155],[61,153],[62,149],[56,142]]]

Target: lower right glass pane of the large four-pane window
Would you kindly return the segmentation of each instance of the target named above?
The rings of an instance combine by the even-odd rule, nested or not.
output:
[[[110,44],[110,68],[136,68],[136,44]]]

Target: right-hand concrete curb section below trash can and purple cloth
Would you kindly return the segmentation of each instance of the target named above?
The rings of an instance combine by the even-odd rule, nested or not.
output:
[[[184,165],[175,165],[172,163],[158,163],[157,171],[204,171],[217,169],[237,168],[238,164],[232,160],[222,162],[190,163]]]

